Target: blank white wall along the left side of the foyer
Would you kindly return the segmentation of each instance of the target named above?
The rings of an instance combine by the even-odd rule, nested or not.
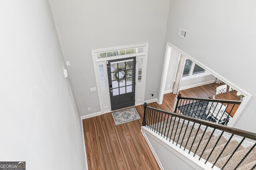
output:
[[[0,23],[0,160],[84,170],[80,116],[49,2],[2,0]]]

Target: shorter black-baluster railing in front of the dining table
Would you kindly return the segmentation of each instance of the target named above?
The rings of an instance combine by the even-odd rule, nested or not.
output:
[[[176,96],[174,113],[227,125],[241,101]]]

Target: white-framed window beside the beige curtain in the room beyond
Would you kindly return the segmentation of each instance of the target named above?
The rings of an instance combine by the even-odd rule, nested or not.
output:
[[[194,63],[190,59],[186,59],[182,77],[200,74],[204,72],[205,72],[204,68],[198,66],[196,63]]]

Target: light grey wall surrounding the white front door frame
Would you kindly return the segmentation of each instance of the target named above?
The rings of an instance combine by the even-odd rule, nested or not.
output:
[[[158,96],[170,0],[49,1],[80,115],[100,111],[97,91],[90,92],[94,49],[149,43],[145,100]]]

